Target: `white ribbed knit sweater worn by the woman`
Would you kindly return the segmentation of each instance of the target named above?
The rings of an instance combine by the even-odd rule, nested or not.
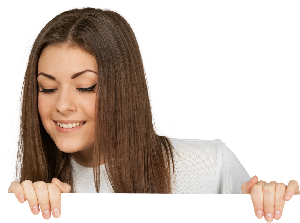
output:
[[[173,194],[183,195],[241,195],[241,186],[251,175],[243,163],[220,139],[170,138],[174,155],[175,182]],[[72,155],[71,173],[75,194],[97,194],[93,168],[78,164]],[[170,159],[171,171],[172,161]],[[100,167],[100,194],[113,194],[112,186]]]

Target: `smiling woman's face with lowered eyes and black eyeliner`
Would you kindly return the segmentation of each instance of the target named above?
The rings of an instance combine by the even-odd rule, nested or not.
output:
[[[95,73],[88,71],[74,79],[71,78],[84,70]],[[39,75],[41,72],[53,76],[55,80]],[[51,47],[43,51],[38,61],[38,90],[56,89],[52,93],[38,91],[38,112],[42,125],[60,151],[72,153],[74,159],[84,166],[92,166],[90,155],[94,144],[97,90],[79,90],[97,84],[96,72],[95,57],[80,49]],[[96,85],[94,88],[97,87]],[[65,124],[71,120],[86,123],[76,127],[77,130],[73,132],[64,133],[58,130],[61,127],[58,127],[57,120],[62,120]]]

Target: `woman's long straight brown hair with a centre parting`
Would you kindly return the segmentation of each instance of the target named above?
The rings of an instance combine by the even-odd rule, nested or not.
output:
[[[155,128],[151,93],[135,34],[126,18],[100,8],[73,8],[56,15],[30,49],[20,98],[18,154],[13,181],[68,183],[70,154],[60,151],[38,113],[38,60],[51,46],[80,48],[97,61],[93,173],[99,194],[101,157],[115,194],[172,194],[174,147]],[[175,150],[174,150],[175,151]],[[110,162],[109,160],[113,160]]]

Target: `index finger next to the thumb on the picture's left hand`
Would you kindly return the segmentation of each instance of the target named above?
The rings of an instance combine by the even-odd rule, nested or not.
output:
[[[48,183],[48,194],[51,206],[51,214],[55,219],[61,216],[61,196],[60,188],[55,183]]]

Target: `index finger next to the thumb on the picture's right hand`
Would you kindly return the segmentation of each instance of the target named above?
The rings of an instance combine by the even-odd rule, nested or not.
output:
[[[256,219],[262,220],[264,215],[263,209],[263,188],[264,183],[256,183],[250,191],[250,201],[252,203],[252,208],[254,210],[254,215]]]

